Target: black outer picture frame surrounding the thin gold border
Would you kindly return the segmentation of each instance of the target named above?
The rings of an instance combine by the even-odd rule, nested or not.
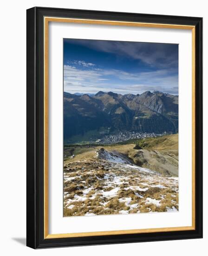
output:
[[[44,237],[44,17],[195,26],[195,230]],[[202,18],[33,7],[27,10],[27,238],[34,248],[202,238]],[[185,102],[184,102],[185,104]]]

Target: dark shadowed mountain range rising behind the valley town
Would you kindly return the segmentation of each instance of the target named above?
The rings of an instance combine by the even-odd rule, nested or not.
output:
[[[64,92],[65,142],[119,131],[177,133],[178,96],[159,91],[140,95],[100,91],[92,96]]]

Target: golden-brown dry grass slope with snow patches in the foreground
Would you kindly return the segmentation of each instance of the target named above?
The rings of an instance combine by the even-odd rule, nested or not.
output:
[[[74,158],[71,161],[74,161]],[[144,174],[133,168],[123,170],[118,165],[95,158],[89,159],[87,162],[79,161],[65,163],[64,216],[84,216],[89,213],[95,215],[119,214],[121,210],[132,214],[164,212],[173,206],[178,209],[178,193],[174,191],[177,189],[177,182],[175,184],[174,181],[166,179],[163,175]],[[67,178],[72,177],[74,177],[73,180],[67,181]],[[118,180],[119,182],[115,182]],[[151,187],[158,184],[167,188]],[[140,189],[136,189],[137,186],[140,189],[147,187],[149,189],[140,191]],[[104,192],[115,188],[119,188],[116,195],[104,196]],[[88,189],[89,191],[87,191]],[[78,196],[84,198],[83,202],[79,201]],[[160,201],[161,205],[158,207],[153,203],[147,203],[148,197]],[[131,198],[130,205],[119,202],[121,198],[122,200]],[[134,208],[131,207],[132,204],[134,204]],[[74,207],[70,209],[71,205]]]

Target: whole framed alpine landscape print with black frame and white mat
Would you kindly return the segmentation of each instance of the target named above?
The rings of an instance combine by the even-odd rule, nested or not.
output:
[[[27,10],[27,246],[202,238],[202,18]]]

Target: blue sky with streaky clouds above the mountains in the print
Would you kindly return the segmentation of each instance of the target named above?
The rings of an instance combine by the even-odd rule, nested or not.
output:
[[[64,39],[68,93],[178,94],[178,45]]]

